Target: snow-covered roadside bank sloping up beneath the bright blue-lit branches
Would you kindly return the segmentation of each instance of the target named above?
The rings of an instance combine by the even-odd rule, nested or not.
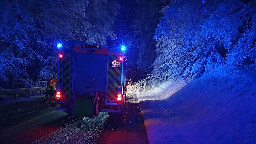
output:
[[[255,70],[223,73],[137,93],[150,144],[255,144]]]

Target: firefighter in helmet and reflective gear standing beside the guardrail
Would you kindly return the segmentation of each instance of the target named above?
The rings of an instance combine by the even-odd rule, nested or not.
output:
[[[53,74],[52,78],[47,81],[46,94],[44,96],[44,102],[48,95],[50,95],[50,106],[56,106],[55,94],[56,94],[56,85],[57,85],[57,73]]]

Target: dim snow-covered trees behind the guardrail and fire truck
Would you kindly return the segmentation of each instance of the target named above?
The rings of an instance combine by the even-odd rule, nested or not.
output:
[[[56,71],[56,41],[115,38],[119,7],[110,0],[1,1],[0,87],[39,85]]]

